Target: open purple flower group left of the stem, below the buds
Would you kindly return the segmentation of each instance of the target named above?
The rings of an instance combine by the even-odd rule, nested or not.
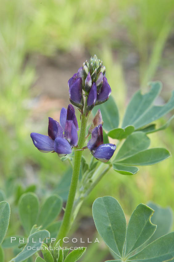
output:
[[[78,128],[74,107],[69,104],[68,109],[63,107],[61,110],[60,124],[49,117],[48,136],[38,133],[31,133],[30,136],[39,151],[56,152],[62,157],[71,154],[72,147],[77,145]]]

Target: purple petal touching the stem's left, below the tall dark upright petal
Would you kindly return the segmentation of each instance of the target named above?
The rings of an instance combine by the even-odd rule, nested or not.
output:
[[[66,121],[64,137],[68,140],[71,146],[77,145],[78,134],[72,120]]]

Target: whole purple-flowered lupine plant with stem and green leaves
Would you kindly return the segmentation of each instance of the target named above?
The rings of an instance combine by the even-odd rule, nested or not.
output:
[[[33,261],[33,256],[36,262],[78,261],[86,248],[82,247],[72,252],[69,252],[69,249],[63,250],[63,238],[69,234],[84,199],[100,179],[111,168],[122,175],[134,175],[139,170],[137,166],[156,164],[170,157],[167,149],[149,149],[148,134],[168,127],[174,116],[159,128],[156,128],[153,122],[172,111],[174,93],[166,104],[157,106],[153,102],[161,91],[161,83],[151,82],[149,85],[148,93],[135,93],[128,104],[122,124],[119,124],[119,111],[114,98],[110,96],[111,87],[107,82],[106,68],[96,55],[83,63],[78,72],[69,79],[71,104],[62,108],[60,121],[49,117],[48,135],[31,133],[31,139],[39,151],[57,153],[62,161],[69,161],[73,169],[66,207],[62,208],[63,201],[57,194],[51,194],[39,209],[38,197],[34,193],[24,192],[18,202],[24,235],[13,239],[18,240],[22,237],[23,242],[18,245],[18,249],[15,247],[15,257],[10,262],[30,262]],[[75,109],[80,112],[79,121]],[[81,123],[80,128],[78,122]],[[83,157],[86,150],[91,155],[89,163]],[[95,200],[95,225],[111,249],[115,259],[112,261],[173,260],[174,234],[169,233],[161,237],[169,232],[168,227],[162,230],[162,234],[154,234],[156,225],[150,221],[154,212],[153,204],[149,206],[140,204],[127,226],[125,215],[117,200],[109,196]],[[62,209],[63,219],[57,221],[56,218]],[[157,210],[157,207],[154,209]],[[166,218],[166,215],[164,217]],[[2,248],[9,248],[11,245],[9,237],[5,238],[9,219],[9,204],[2,201]],[[151,241],[153,234],[154,242]],[[55,239],[54,243],[51,239]],[[2,248],[1,261],[4,261]]]

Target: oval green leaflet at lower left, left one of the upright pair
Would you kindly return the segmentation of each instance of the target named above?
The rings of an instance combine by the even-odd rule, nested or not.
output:
[[[38,210],[38,197],[34,193],[26,193],[21,196],[19,200],[19,216],[27,235],[29,235],[31,228],[36,224]]]

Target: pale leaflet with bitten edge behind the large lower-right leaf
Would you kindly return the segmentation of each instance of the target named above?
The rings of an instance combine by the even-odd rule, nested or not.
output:
[[[148,241],[148,243],[150,243],[170,232],[173,225],[173,213],[170,207],[162,208],[152,202],[148,202],[147,205],[155,210],[151,221],[153,224],[157,225],[155,233]]]

